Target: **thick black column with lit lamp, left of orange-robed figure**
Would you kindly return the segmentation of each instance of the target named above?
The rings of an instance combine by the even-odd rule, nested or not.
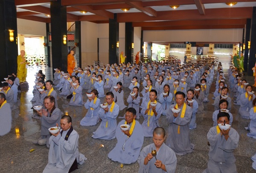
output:
[[[52,32],[52,68],[61,67],[67,71],[67,44],[63,44],[63,35],[67,35],[67,7],[61,6],[61,0],[51,2]]]

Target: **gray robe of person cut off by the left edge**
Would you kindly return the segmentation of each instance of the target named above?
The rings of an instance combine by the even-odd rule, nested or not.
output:
[[[9,103],[5,103],[0,108],[0,136],[10,132],[12,126],[12,111]]]

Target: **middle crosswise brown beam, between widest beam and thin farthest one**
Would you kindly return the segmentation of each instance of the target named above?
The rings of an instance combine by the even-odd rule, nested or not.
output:
[[[190,26],[190,25],[245,25],[247,19],[172,20],[162,22],[133,22],[133,27]]]

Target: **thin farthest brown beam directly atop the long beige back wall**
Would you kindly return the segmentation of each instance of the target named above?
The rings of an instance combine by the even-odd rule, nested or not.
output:
[[[186,29],[237,29],[244,28],[245,25],[210,25],[210,26],[159,26],[159,27],[142,27],[141,30],[186,30]]]

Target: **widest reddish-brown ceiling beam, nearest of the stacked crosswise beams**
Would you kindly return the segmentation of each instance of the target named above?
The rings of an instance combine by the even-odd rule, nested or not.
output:
[[[206,9],[206,15],[200,15],[198,10],[157,11],[157,17],[144,13],[119,13],[117,22],[144,22],[165,20],[203,20],[203,19],[243,19],[251,18],[253,7]]]

